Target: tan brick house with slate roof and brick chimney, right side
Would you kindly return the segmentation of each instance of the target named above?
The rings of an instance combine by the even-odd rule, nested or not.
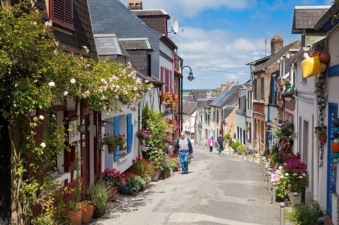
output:
[[[271,80],[280,67],[277,60],[289,49],[300,48],[300,41],[283,47],[283,39],[277,35],[271,40],[271,55],[250,62],[253,79],[253,147],[254,151],[267,152],[267,138],[264,127],[268,118],[269,92],[273,88]]]

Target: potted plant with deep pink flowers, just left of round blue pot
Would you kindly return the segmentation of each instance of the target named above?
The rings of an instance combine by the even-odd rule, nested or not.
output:
[[[108,201],[115,201],[116,200],[116,193],[118,188],[120,188],[121,185],[126,185],[126,179],[121,176],[120,171],[117,171],[116,169],[104,169],[104,171],[101,173],[102,180],[108,184],[111,195],[108,197]]]

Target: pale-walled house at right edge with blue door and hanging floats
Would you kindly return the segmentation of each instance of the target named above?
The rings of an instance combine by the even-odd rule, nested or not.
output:
[[[305,11],[300,18],[300,10]],[[309,12],[313,12],[310,14]],[[332,6],[296,6],[292,32],[300,33],[302,48],[290,58],[294,79],[293,99],[295,101],[294,128],[298,137],[294,139],[294,153],[300,152],[301,159],[307,164],[309,185],[306,186],[305,198],[319,202],[325,224],[338,224],[337,170],[331,155],[331,144],[337,138],[333,131],[332,120],[338,118],[338,22],[339,4]],[[314,17],[314,19],[310,19]],[[298,21],[305,21],[300,23]],[[299,25],[298,25],[299,24]],[[326,51],[330,61],[319,75],[303,78],[301,62],[313,51]],[[320,144],[313,140],[314,127],[327,126],[327,141]]]

